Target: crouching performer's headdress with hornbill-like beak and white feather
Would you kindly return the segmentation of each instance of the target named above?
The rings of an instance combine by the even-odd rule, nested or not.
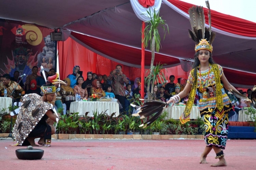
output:
[[[41,86],[41,92],[43,94],[56,93],[57,92],[57,88],[55,87],[56,84],[66,85],[66,83],[64,81],[58,79],[59,78],[58,73],[55,73],[54,76],[49,76],[48,79],[46,79],[46,74],[45,74],[43,66],[41,66],[41,71],[42,71],[42,74],[46,81],[46,85]]]

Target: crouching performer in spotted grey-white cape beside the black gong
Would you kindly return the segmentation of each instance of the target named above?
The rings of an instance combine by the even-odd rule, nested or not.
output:
[[[51,104],[56,99],[54,85],[56,81],[51,84],[52,81],[49,81],[49,78],[46,85],[41,86],[43,96],[32,93],[23,97],[13,128],[13,134],[17,141],[17,144],[14,145],[50,146],[51,135],[55,133],[53,124],[59,119],[53,104]],[[60,83],[59,81],[61,80],[56,83]],[[36,138],[40,138],[39,145],[35,144]]]

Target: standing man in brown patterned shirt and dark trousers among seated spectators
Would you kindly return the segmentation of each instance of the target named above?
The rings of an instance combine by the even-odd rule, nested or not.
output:
[[[122,104],[124,108],[125,103],[125,81],[126,76],[122,72],[122,66],[117,65],[113,73],[110,74],[108,80],[112,80],[112,92],[115,94],[116,99]]]

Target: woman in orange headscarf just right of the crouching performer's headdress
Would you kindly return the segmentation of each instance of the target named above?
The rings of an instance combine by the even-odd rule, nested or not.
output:
[[[70,87],[70,79],[65,78],[63,81],[66,83],[66,85],[61,85],[61,100],[66,104],[67,110],[69,110],[71,102],[75,101],[74,92],[73,88]]]

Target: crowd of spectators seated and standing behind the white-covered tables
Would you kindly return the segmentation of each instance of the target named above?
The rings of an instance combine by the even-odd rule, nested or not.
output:
[[[37,93],[41,95],[40,87],[46,84],[44,76],[37,75],[38,68],[35,66],[32,68],[32,74],[27,76],[25,85],[20,78],[20,73],[15,71],[13,77],[9,74],[0,76],[0,92],[3,96],[4,89],[7,89],[7,96],[14,98],[15,101],[19,101],[25,94]],[[81,98],[88,98],[92,94],[97,94],[98,97],[110,97],[118,99],[119,104],[121,104],[120,111],[128,112],[130,105],[129,100],[135,99],[136,96],[141,96],[144,93],[145,98],[148,95],[152,95],[154,100],[168,101],[170,97],[180,93],[184,86],[186,85],[186,80],[182,81],[182,78],[178,78],[175,81],[175,76],[169,76],[169,83],[157,84],[153,87],[153,93],[148,94],[146,91],[147,86],[145,85],[144,92],[141,91],[141,77],[136,77],[134,81],[130,80],[123,72],[122,66],[117,65],[115,69],[110,72],[110,75],[101,75],[99,73],[87,72],[86,79],[81,75],[79,66],[73,67],[73,73],[68,75],[64,82],[66,85],[60,86],[60,91],[57,93],[58,102],[65,103],[67,110],[70,107],[70,103],[75,100],[75,95],[80,94]],[[45,71],[46,76],[55,75],[55,70],[52,68],[49,72]],[[17,84],[17,82],[19,82]],[[176,83],[174,83],[176,82]],[[17,87],[16,87],[17,86]],[[11,92],[16,87],[13,94]],[[56,85],[58,88],[59,85]],[[151,89],[151,87],[150,87]],[[151,90],[150,90],[151,91]],[[238,112],[242,107],[246,107],[243,100],[236,98],[232,93],[226,91],[229,95],[229,99],[232,102],[234,110]],[[241,94],[245,96],[250,96],[251,89],[247,92],[240,91]],[[188,96],[180,99],[177,104],[186,104],[188,101]],[[200,96],[196,94],[194,105],[199,102]],[[61,105],[61,104],[58,104]]]

